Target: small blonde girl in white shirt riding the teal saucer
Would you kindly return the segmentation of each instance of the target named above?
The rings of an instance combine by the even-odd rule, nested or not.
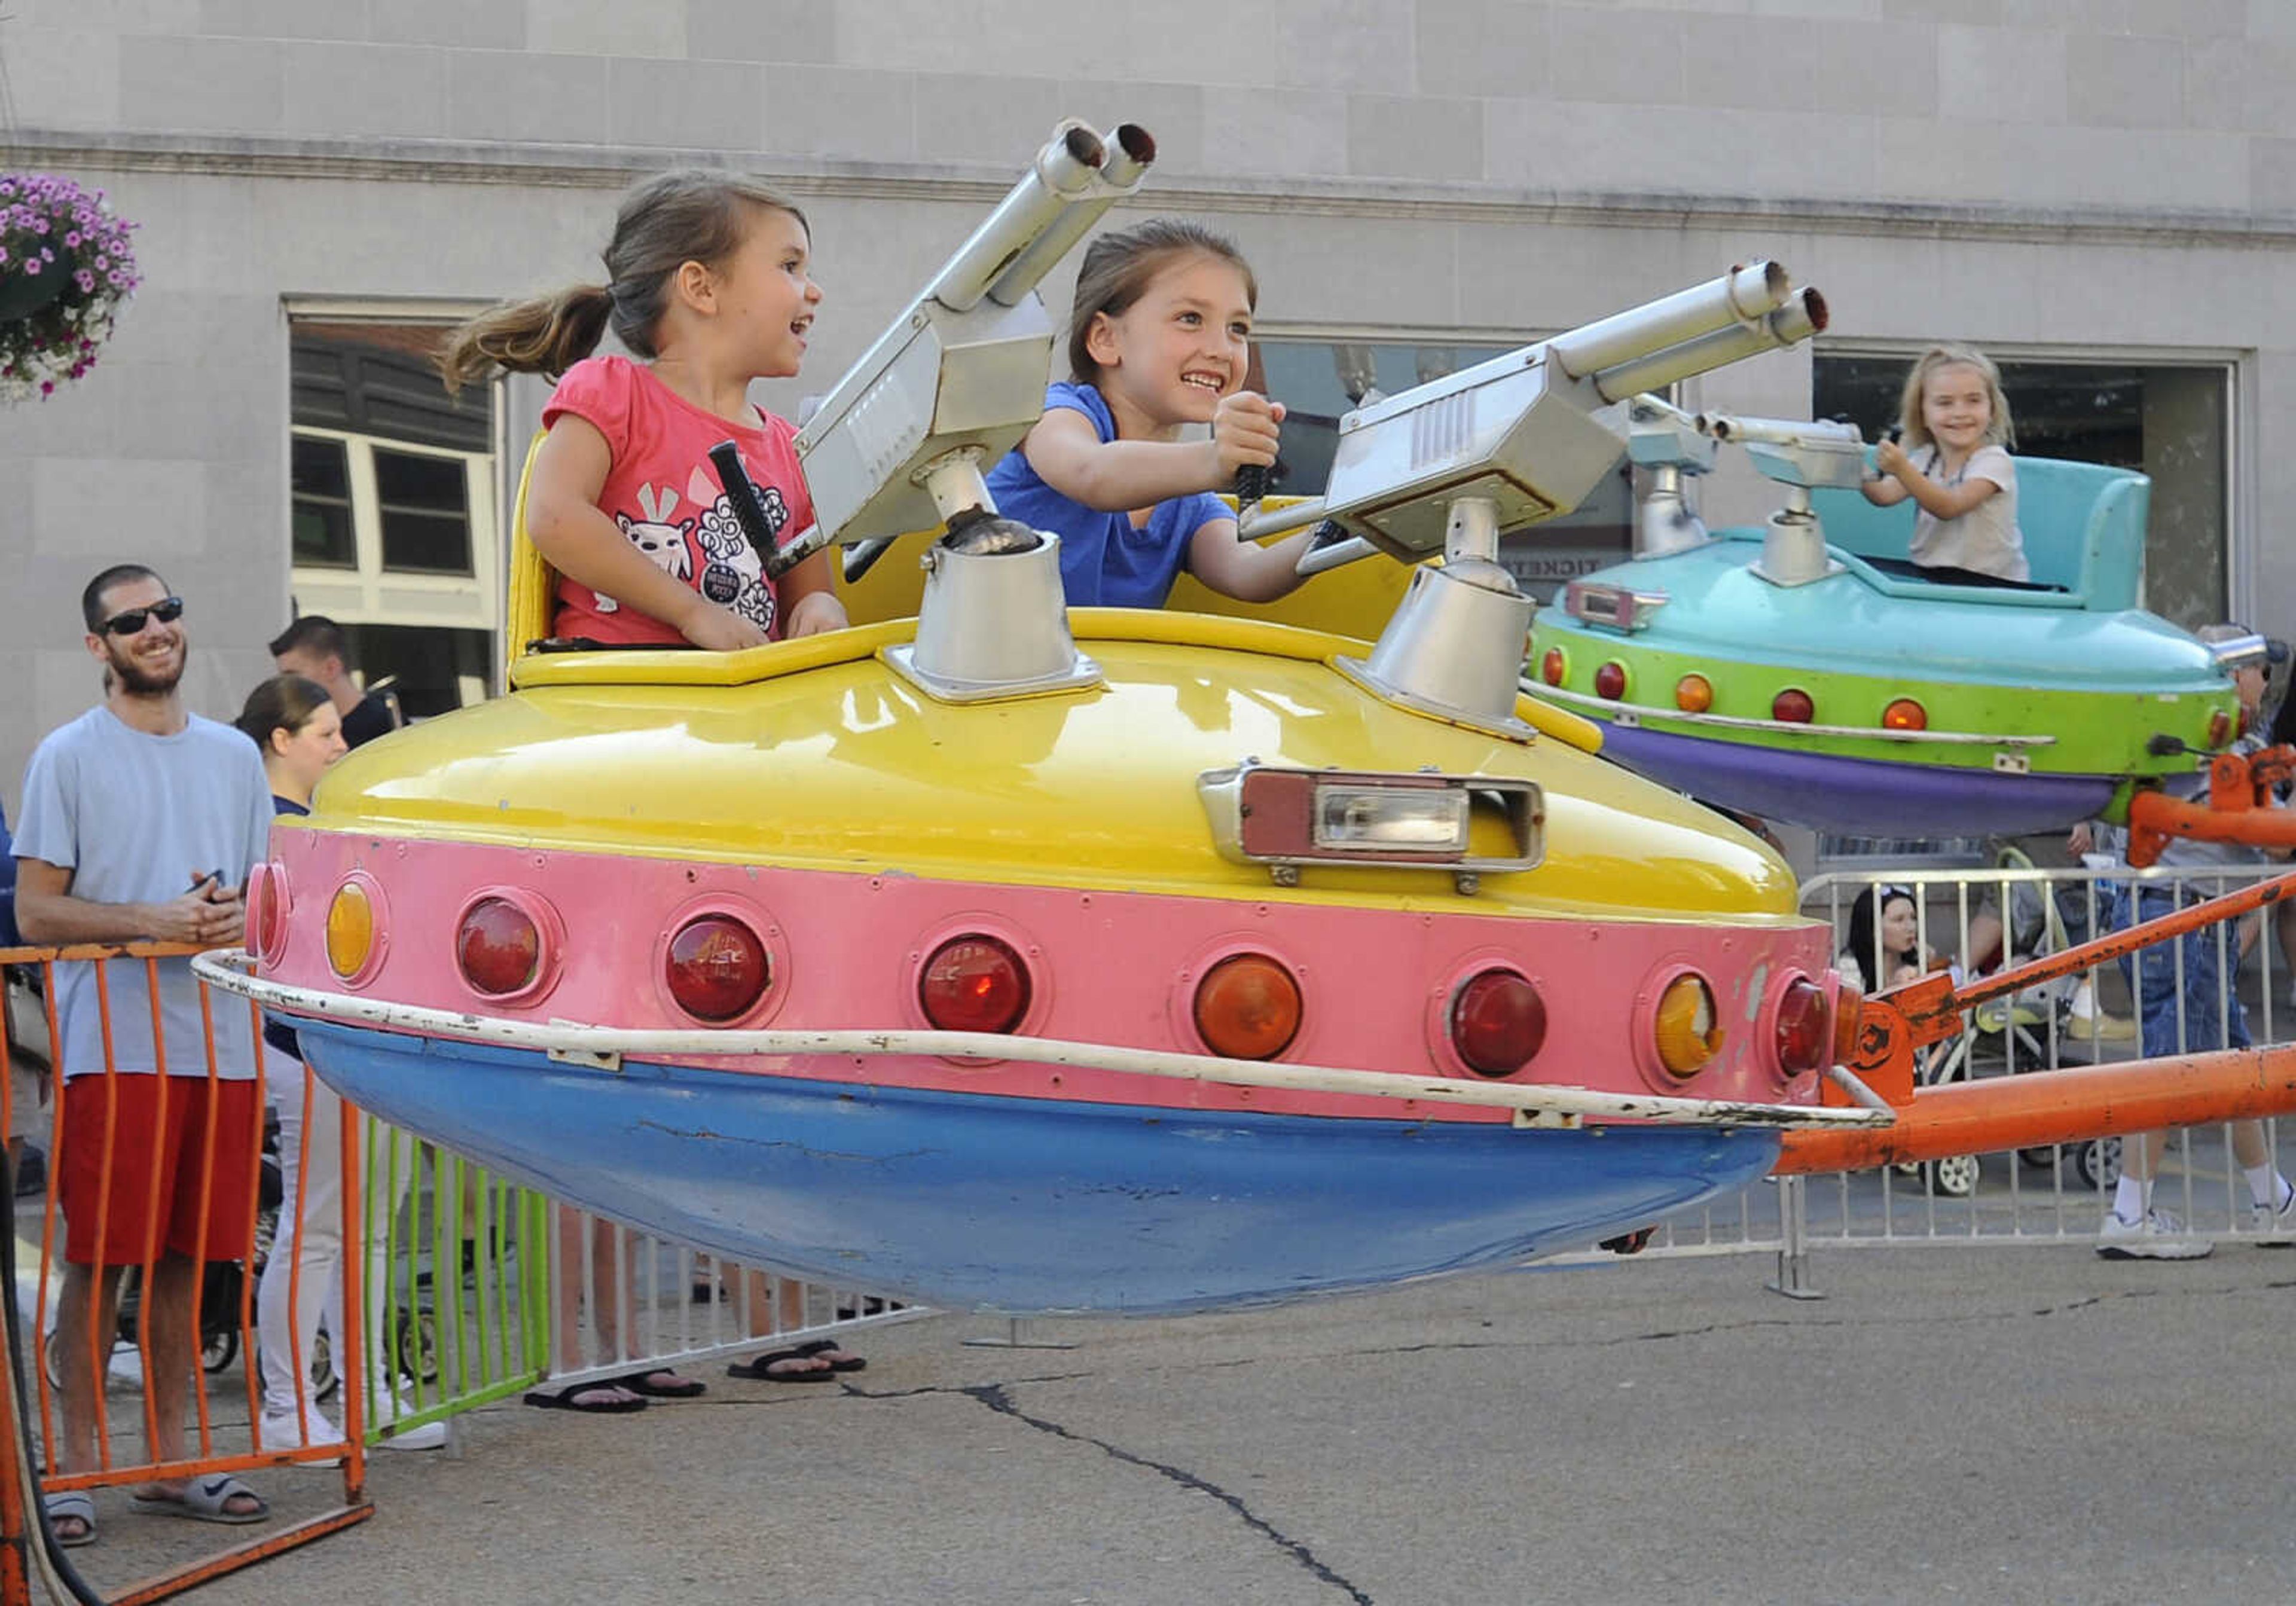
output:
[[[1899,400],[1903,446],[1874,448],[1864,496],[1894,508],[1913,496],[1908,556],[1942,581],[2032,579],[2016,526],[2016,464],[2009,397],[1993,358],[1968,345],[1933,345],[1906,375]]]

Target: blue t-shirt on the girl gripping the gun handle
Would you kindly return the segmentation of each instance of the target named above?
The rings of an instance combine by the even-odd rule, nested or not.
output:
[[[1093,420],[1102,441],[1116,439],[1116,416],[1088,384],[1045,391],[1045,411],[1065,407]],[[1061,538],[1061,588],[1068,607],[1159,609],[1187,563],[1187,542],[1212,519],[1233,519],[1210,492],[1159,501],[1148,524],[1132,528],[1130,512],[1100,512],[1045,485],[1022,448],[990,469],[996,512]]]

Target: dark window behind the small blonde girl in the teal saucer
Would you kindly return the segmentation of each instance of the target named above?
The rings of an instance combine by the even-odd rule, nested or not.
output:
[[[1910,352],[1821,352],[1812,411],[1848,418],[1871,441],[1896,423],[1896,397],[1910,363]],[[2018,453],[2151,476],[2144,607],[2188,630],[2220,620],[2227,607],[2229,372],[2220,363],[2004,361],[2000,368]]]

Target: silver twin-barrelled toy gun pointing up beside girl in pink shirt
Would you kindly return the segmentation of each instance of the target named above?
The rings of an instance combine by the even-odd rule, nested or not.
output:
[[[1035,287],[1116,200],[1134,193],[1155,140],[1120,124],[1054,129],[1029,172],[797,437],[815,528],[774,554],[781,574],[829,542],[882,542],[990,508],[980,466],[1045,411],[1054,319]],[[847,574],[866,567],[861,554]]]

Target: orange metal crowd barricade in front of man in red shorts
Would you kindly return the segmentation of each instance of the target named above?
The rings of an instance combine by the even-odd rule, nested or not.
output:
[[[32,1238],[39,1250],[30,1330],[21,1319],[9,1326],[18,1351],[11,1353],[14,1372],[34,1379],[37,1404],[14,1399],[14,1388],[0,1390],[9,1395],[0,1399],[0,1427],[11,1434],[9,1461],[0,1468],[0,1606],[32,1599],[34,1569],[46,1574],[48,1567],[71,1562],[101,1569],[103,1542],[133,1521],[129,1512],[135,1505],[165,1512],[152,1496],[168,1498],[186,1480],[193,1493],[204,1493],[225,1475],[340,1464],[342,1498],[317,1514],[287,1521],[271,1514],[259,1487],[250,1487],[248,1493],[264,1503],[259,1519],[234,1512],[218,1521],[241,1526],[177,1526],[186,1539],[230,1532],[236,1544],[126,1585],[99,1585],[103,1599],[165,1599],[347,1528],[374,1510],[365,1498],[358,1422],[358,1254],[342,1257],[344,1321],[335,1339],[342,1351],[338,1374],[344,1379],[349,1431],[342,1438],[333,1429],[305,1436],[298,1427],[285,1441],[264,1434],[257,1277],[273,1243],[301,1241],[301,1222],[278,1220],[278,1163],[266,1156],[264,1142],[259,1011],[248,1006],[246,1043],[236,1032],[225,1032],[225,1052],[218,1052],[218,1011],[236,1011],[241,1004],[216,999],[204,983],[184,979],[174,986],[200,990],[202,1041],[168,1041],[161,963],[184,960],[195,951],[181,944],[0,949],[0,965],[37,974],[51,1057],[57,1061],[37,1066],[37,1080],[25,1078],[21,1073],[32,1068],[28,1050],[0,1034],[0,1124],[9,1133],[11,1153],[18,1130],[37,1128],[34,1114],[18,1110],[28,1089],[37,1089],[48,1114],[48,1179],[39,1229],[32,1234],[30,1222],[18,1220],[11,1245],[14,1257],[28,1254]],[[57,972],[76,963],[92,963],[101,1064],[69,1064],[64,1048],[55,1006]],[[119,965],[142,967],[149,1039],[115,1020]],[[135,1045],[131,1055],[122,1052],[122,1036]],[[149,1043],[149,1055],[142,1043]],[[282,1098],[310,1098],[308,1080],[276,1091]],[[351,1130],[344,1124],[344,1220],[358,1220]],[[310,1156],[289,1156],[287,1163],[308,1167]],[[80,1220],[67,1215],[67,1197]],[[289,1197],[301,1213],[310,1190],[296,1188]],[[289,1266],[294,1305],[301,1291],[294,1282],[303,1268],[294,1257]],[[310,1399],[310,1358],[301,1353],[292,1330],[294,1323],[289,1362],[296,1399],[287,1420],[324,1422]],[[232,1376],[234,1367],[239,1376]],[[124,1390],[138,1397],[135,1408],[119,1408],[124,1402],[115,1395]],[[28,1427],[37,1429],[37,1447],[28,1441]],[[135,1493],[94,1503],[96,1491],[122,1487]],[[71,1560],[44,1549],[39,1537],[41,1503],[48,1503],[48,1537],[55,1539],[55,1496],[67,1493],[85,1493],[96,1510],[92,1549],[71,1549]],[[220,1503],[227,1505],[234,1493],[225,1491]],[[90,1510],[78,1500],[62,1505],[83,1519]],[[147,1546],[135,1551],[147,1553]]]

